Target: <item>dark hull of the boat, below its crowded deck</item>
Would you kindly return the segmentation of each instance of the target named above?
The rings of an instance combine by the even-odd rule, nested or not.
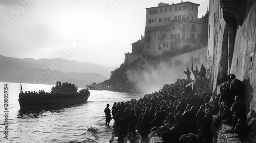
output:
[[[18,99],[20,109],[53,108],[81,104],[87,102],[87,96],[76,98],[21,98]]]

